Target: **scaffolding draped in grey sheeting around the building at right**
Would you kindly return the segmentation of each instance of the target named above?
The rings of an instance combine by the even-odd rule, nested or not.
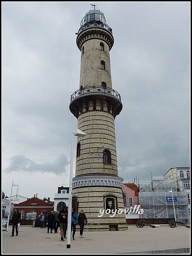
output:
[[[177,221],[189,223],[189,211],[186,192],[177,192],[176,180],[164,180],[164,177],[153,177],[152,181],[140,181],[138,200],[144,210],[142,218],[175,218],[173,202],[169,193],[172,190]]]

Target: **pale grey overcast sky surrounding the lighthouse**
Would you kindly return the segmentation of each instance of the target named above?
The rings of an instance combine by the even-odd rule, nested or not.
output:
[[[3,191],[54,198],[68,186],[76,35],[92,2],[3,2]],[[97,2],[115,39],[119,176],[149,180],[189,166],[189,2]],[[75,145],[74,145],[75,148]],[[74,150],[75,153],[76,150]],[[75,165],[73,165],[75,172]],[[13,194],[16,193],[16,187]]]

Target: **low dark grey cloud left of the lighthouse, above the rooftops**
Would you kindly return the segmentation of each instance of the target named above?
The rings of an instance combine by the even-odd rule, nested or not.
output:
[[[10,165],[5,169],[7,172],[51,172],[56,175],[61,175],[67,172],[68,165],[67,157],[64,154],[52,163],[37,163],[34,160],[24,155],[14,155],[10,158]]]

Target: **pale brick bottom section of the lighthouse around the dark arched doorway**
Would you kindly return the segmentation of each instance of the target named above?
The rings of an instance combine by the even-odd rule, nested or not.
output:
[[[103,183],[107,181],[112,181],[113,176],[102,176]],[[97,180],[98,178],[98,180]],[[107,179],[108,178],[108,179]],[[119,178],[119,177],[117,177]],[[77,177],[75,178],[77,179]],[[76,182],[73,178],[73,186],[76,186]],[[90,181],[91,186],[79,186],[73,187],[72,197],[78,202],[78,213],[83,209],[87,218],[88,224],[85,225],[85,231],[115,231],[115,230],[127,230],[127,222],[124,214],[124,204],[122,198],[122,189],[120,183],[117,186],[94,186],[95,183],[101,180],[101,177],[88,176],[79,177],[78,183],[82,183],[82,179]],[[121,179],[121,178],[119,178]],[[74,185],[75,184],[75,185]],[[111,217],[113,214],[103,214],[101,218],[98,217],[100,211],[105,210],[107,202],[110,200],[113,203],[112,208],[115,205],[115,209],[123,209],[123,213],[116,214],[114,217]],[[78,226],[77,226],[78,228]]]

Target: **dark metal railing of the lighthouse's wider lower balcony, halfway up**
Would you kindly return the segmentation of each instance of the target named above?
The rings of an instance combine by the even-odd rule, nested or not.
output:
[[[71,102],[77,97],[93,94],[93,93],[110,95],[119,99],[119,101],[121,101],[121,95],[116,90],[113,90],[112,88],[102,87],[102,86],[88,86],[88,87],[84,87],[82,89],[76,90],[71,95]]]

